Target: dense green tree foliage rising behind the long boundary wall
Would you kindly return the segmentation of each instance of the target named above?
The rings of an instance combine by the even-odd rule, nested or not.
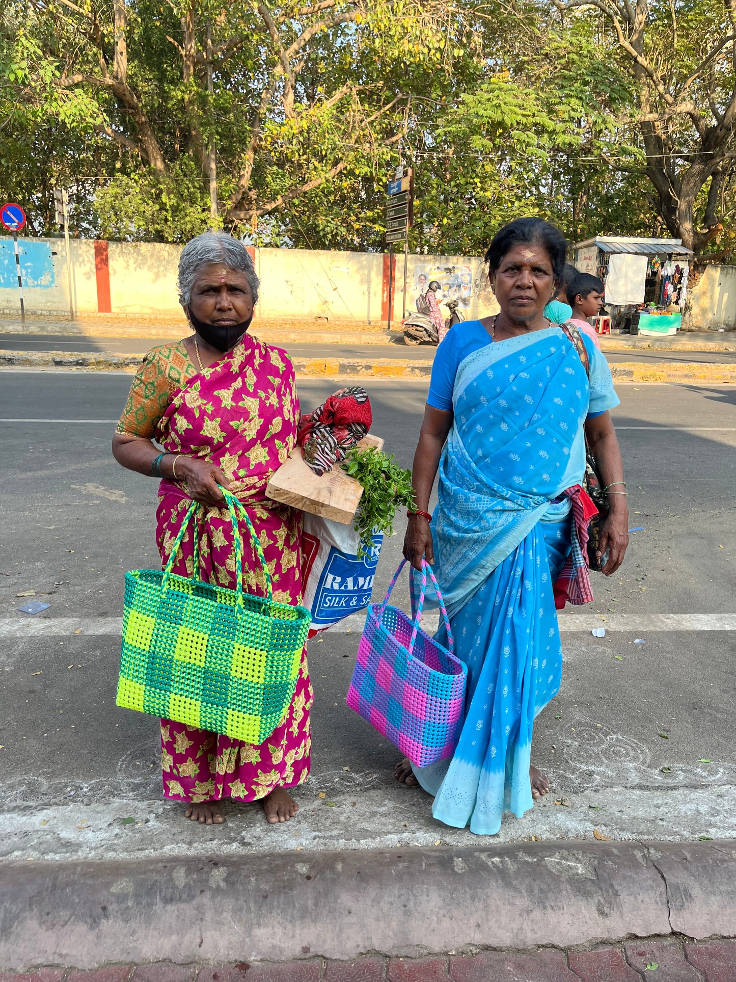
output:
[[[218,226],[260,245],[377,249],[400,158],[416,175],[412,249],[477,253],[522,213],[572,239],[669,230],[727,245],[731,137],[704,170],[698,127],[706,112],[730,125],[733,41],[713,41],[730,14],[636,0],[637,39],[632,3],[6,0],[0,189],[35,234],[53,230],[64,186],[80,235],[183,242]],[[688,99],[709,98],[696,118]],[[696,164],[706,176],[687,184]]]

